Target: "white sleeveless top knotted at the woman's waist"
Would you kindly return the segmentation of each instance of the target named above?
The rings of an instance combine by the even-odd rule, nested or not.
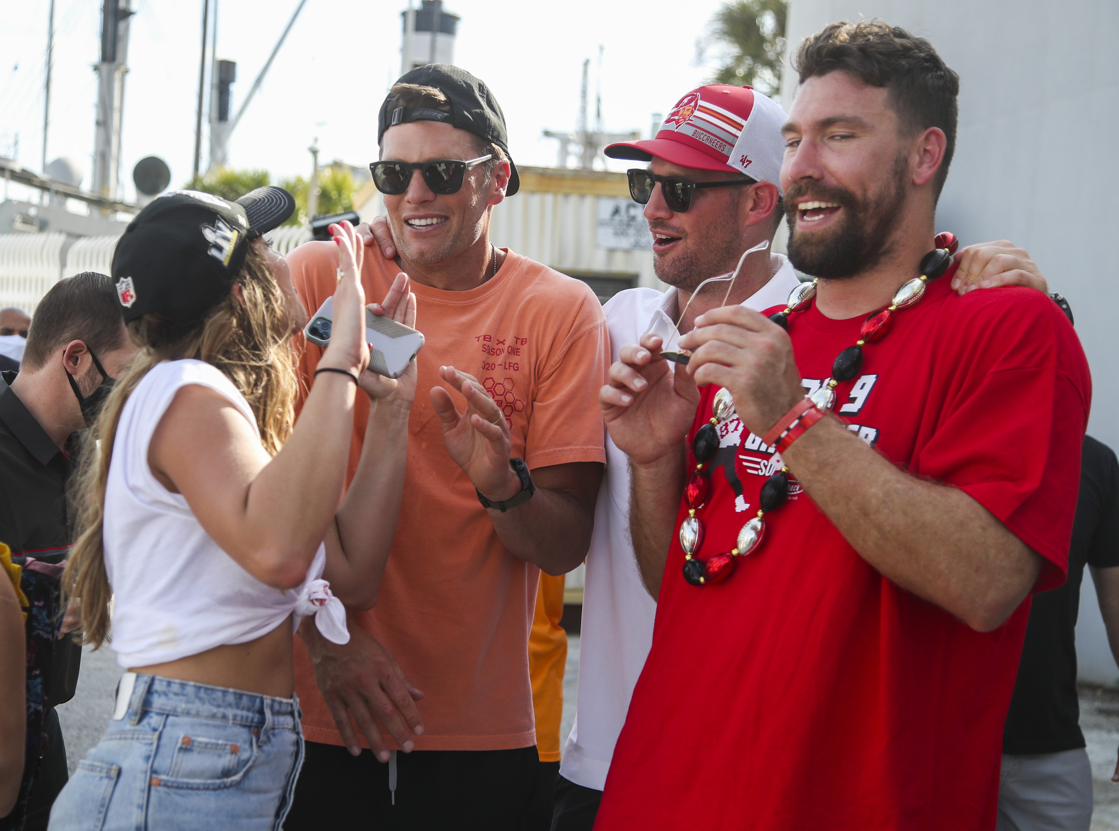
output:
[[[181,494],[159,483],[148,445],[175,394],[197,384],[229,399],[260,435],[248,402],[216,367],[199,360],[159,363],[129,396],[113,443],[105,488],[105,569],[112,585],[113,640],[125,669],[195,655],[267,634],[285,617],[316,615],[322,634],[346,643],[346,612],[319,579],[319,546],[307,579],[281,591],[242,568],[195,519]]]

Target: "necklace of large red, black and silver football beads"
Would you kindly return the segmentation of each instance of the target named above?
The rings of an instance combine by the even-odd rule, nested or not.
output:
[[[903,283],[894,292],[888,306],[869,314],[863,321],[859,338],[855,344],[847,347],[836,356],[831,365],[831,377],[778,422],[762,438],[764,444],[773,445],[774,452],[780,454],[835,406],[835,388],[843,381],[854,378],[862,368],[863,348],[867,343],[882,340],[893,324],[894,314],[902,309],[916,305],[924,296],[928,281],[943,276],[952,267],[952,255],[959,247],[956,235],[947,232],[938,234],[935,244],[937,247],[921,258],[921,275]],[[789,294],[784,310],[771,314],[770,320],[788,329],[789,315],[807,310],[815,296],[816,281],[801,283]],[[734,399],[730,390],[724,387],[715,394],[712,402],[712,415],[707,424],[696,431],[692,441],[692,454],[696,465],[684,485],[684,501],[688,508],[688,516],[680,523],[679,541],[680,548],[684,549],[684,579],[693,586],[722,583],[730,577],[737,558],[753,554],[761,546],[765,538],[765,514],[780,508],[789,498],[789,469],[782,466],[770,475],[762,485],[758,514],[747,520],[739,530],[734,548],[723,554],[713,555],[706,560],[700,560],[697,557],[704,541],[704,522],[699,514],[704,510],[707,493],[711,490],[708,462],[714,459],[720,444],[717,425],[733,415]]]

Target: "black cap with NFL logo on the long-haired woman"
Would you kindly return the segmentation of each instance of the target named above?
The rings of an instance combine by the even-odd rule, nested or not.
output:
[[[201,321],[233,285],[251,239],[295,209],[283,188],[267,186],[235,202],[198,190],[153,199],[129,223],[113,252],[116,300],[128,323],[149,312],[177,323]]]

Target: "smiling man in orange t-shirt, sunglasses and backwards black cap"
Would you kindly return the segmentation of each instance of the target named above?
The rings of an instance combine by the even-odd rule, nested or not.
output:
[[[407,73],[378,138],[398,268],[366,257],[361,282],[380,298],[406,272],[426,343],[377,604],[350,610],[344,646],[307,627],[297,640],[307,759],[284,827],[519,829],[539,768],[537,577],[571,570],[590,542],[605,322],[585,284],[489,242],[492,206],[519,180],[478,78]],[[337,249],[310,243],[288,261],[313,313],[333,293]],[[308,385],[320,355],[304,350]],[[355,414],[350,475],[365,421]]]

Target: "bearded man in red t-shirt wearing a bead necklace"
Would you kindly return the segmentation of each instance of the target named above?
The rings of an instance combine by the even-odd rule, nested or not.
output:
[[[956,74],[881,21],[797,69],[781,182],[817,280],[683,352],[646,336],[600,394],[665,565],[596,829],[994,829],[1027,597],[1064,579],[1088,365],[1042,293],[951,291]]]

